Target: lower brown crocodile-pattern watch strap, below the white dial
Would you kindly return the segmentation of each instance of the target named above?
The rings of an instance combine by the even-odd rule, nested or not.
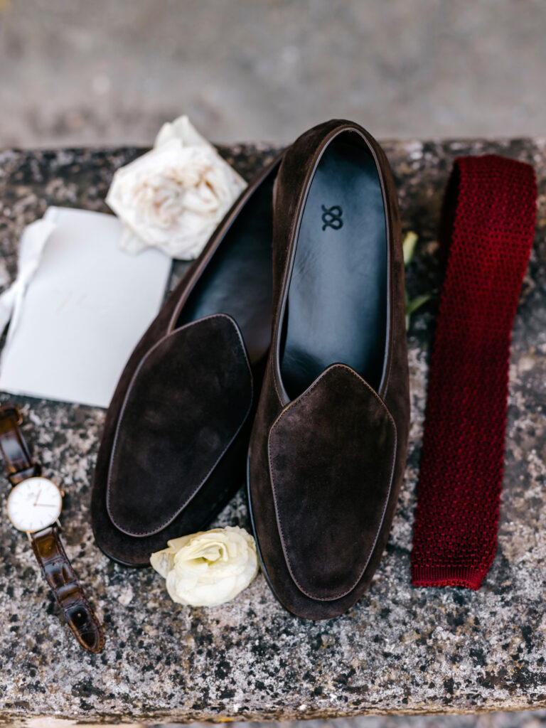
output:
[[[58,526],[49,526],[31,534],[31,542],[42,574],[74,637],[89,652],[100,652],[104,646],[103,631],[68,561],[60,542]]]

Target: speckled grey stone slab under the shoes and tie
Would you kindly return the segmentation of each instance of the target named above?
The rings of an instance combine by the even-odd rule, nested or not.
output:
[[[69,557],[106,626],[98,656],[62,625],[27,539],[0,521],[0,724],[31,716],[87,722],[303,719],[546,706],[546,140],[385,145],[403,225],[419,234],[412,294],[437,291],[436,230],[459,154],[498,152],[534,163],[538,231],[515,321],[499,548],[478,592],[414,589],[409,552],[435,304],[409,332],[411,443],[387,553],[348,614],[305,622],[285,612],[261,575],[230,604],[174,605],[150,569],[131,571],[95,547],[89,499],[104,412],[21,399],[25,432],[67,496]],[[272,149],[223,154],[243,175]],[[0,154],[0,285],[15,272],[18,237],[47,205],[106,210],[113,170],[135,149]],[[183,264],[175,270],[180,274]],[[68,343],[67,343],[68,345]],[[39,352],[36,353],[39,365]],[[1,395],[0,400],[8,399]],[[3,489],[4,509],[7,487]],[[242,491],[218,519],[248,527]]]

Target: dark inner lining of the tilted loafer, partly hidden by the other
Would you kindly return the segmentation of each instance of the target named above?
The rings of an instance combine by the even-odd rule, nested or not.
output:
[[[229,314],[239,326],[250,363],[264,358],[271,339],[272,189],[269,173],[221,241],[191,291],[177,325]]]

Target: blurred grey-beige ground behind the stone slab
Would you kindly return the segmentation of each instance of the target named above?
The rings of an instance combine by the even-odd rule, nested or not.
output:
[[[544,0],[0,0],[0,146],[542,135]]]

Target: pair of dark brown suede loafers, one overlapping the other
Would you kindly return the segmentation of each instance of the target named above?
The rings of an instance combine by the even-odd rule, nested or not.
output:
[[[333,120],[250,183],[130,357],[100,443],[95,538],[147,566],[207,526],[246,467],[275,596],[335,617],[379,564],[408,421],[395,186],[371,135]]]

